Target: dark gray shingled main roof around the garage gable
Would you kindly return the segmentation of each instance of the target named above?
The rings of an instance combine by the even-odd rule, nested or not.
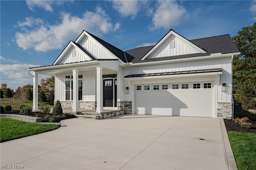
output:
[[[172,30],[172,29],[171,29]],[[173,30],[172,30],[173,31]],[[87,31],[86,31],[87,32]],[[89,32],[87,32],[89,33]],[[153,59],[142,59],[154,46],[148,47],[139,47],[135,49],[131,49],[128,51],[122,51],[117,47],[107,43],[106,41],[96,37],[95,35],[89,33],[94,39],[96,39],[99,43],[104,45],[109,51],[111,51],[114,55],[116,55],[119,59],[121,59],[124,63],[145,63],[145,62],[152,62],[152,61],[164,61],[164,60],[172,60],[172,59],[184,59],[190,57],[201,57],[207,56],[212,53],[235,53],[239,52],[238,48],[236,47],[235,43],[233,42],[232,38],[229,34],[226,35],[219,35],[214,37],[207,37],[207,38],[200,38],[200,39],[193,39],[188,40],[191,43],[195,44],[196,46],[200,47],[207,53],[194,53],[194,54],[187,54],[187,55],[176,55],[176,56],[167,56],[167,57],[158,57]],[[125,53],[125,55],[124,55]]]

